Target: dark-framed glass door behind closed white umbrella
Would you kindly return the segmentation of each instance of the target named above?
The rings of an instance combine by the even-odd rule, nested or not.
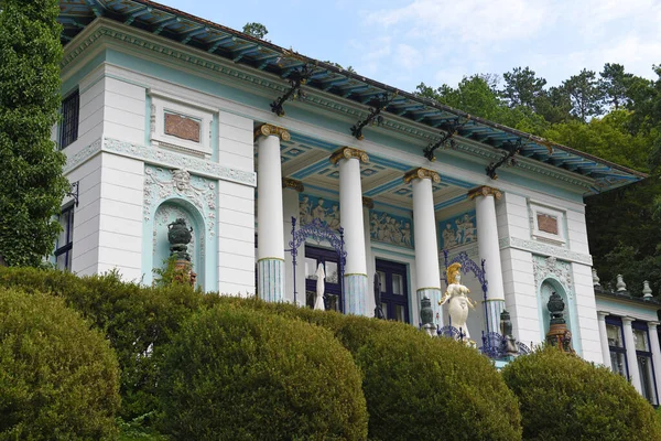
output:
[[[326,279],[324,280],[324,303],[326,311],[343,312],[342,280],[339,280],[339,265],[337,252],[333,249],[305,246],[305,304],[314,308],[316,299],[318,266],[324,266]]]

